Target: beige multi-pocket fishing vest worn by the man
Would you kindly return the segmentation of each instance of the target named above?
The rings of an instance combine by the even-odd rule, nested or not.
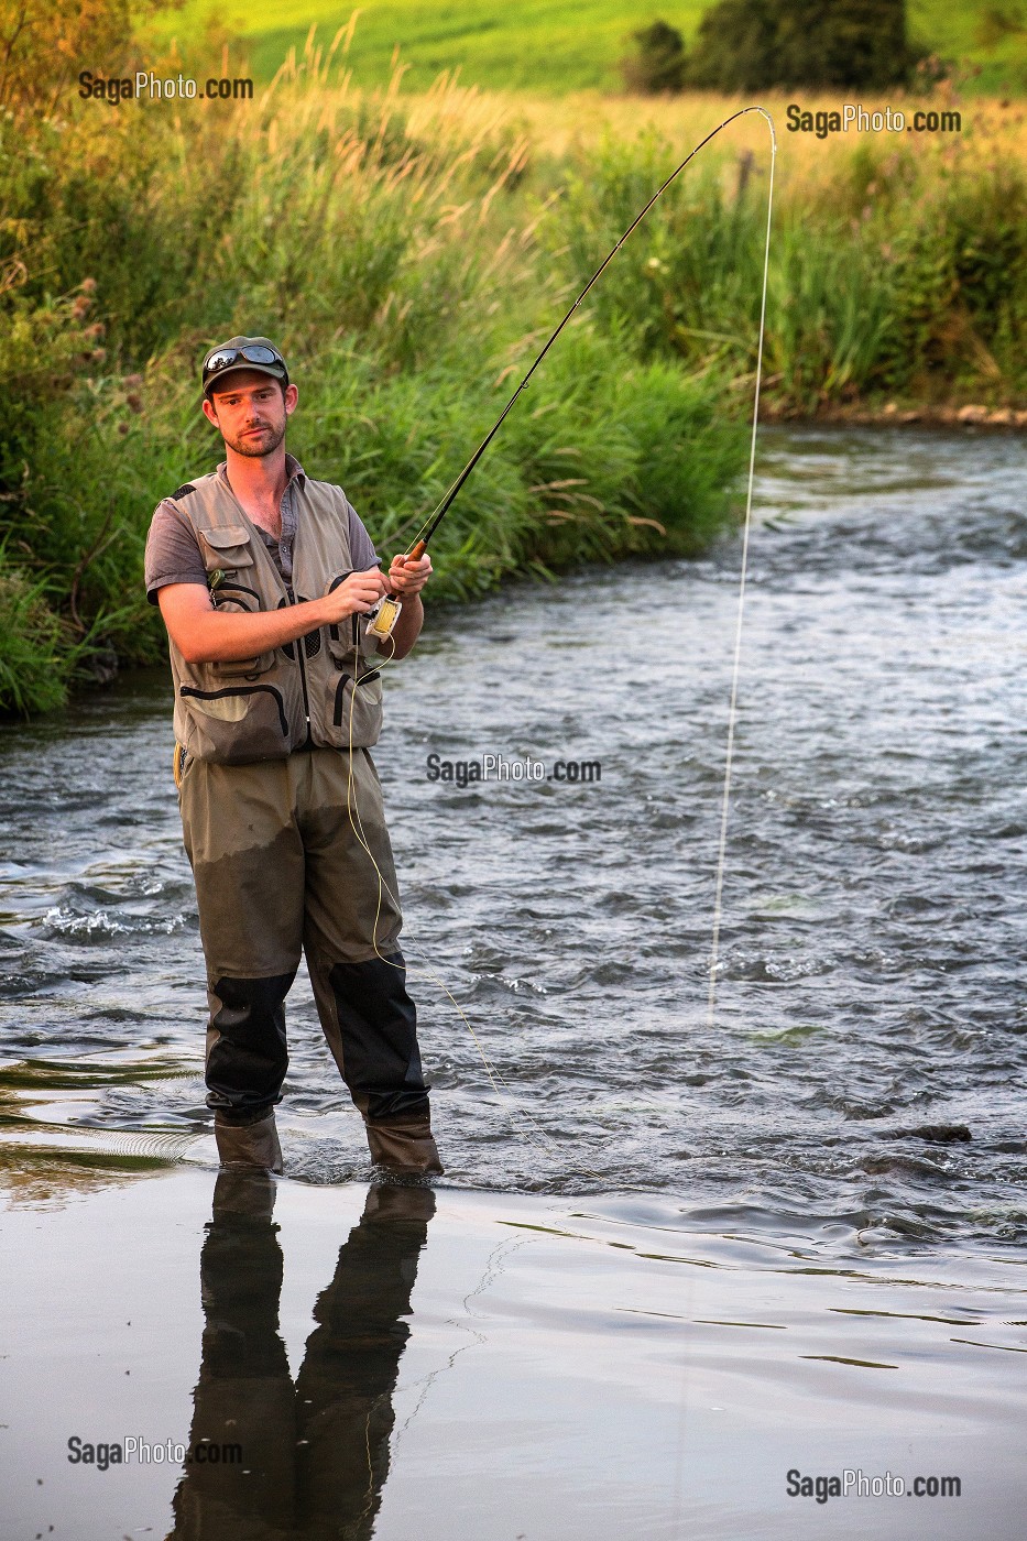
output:
[[[168,501],[196,533],[217,610],[281,610],[319,599],[352,570],[345,498],[296,478],[293,578],[287,584],[261,533],[216,472]],[[191,664],[174,643],[174,737],[216,764],[282,760],[295,749],[369,747],[381,732],[381,675],[364,656],[362,616],[321,626],[237,663]]]

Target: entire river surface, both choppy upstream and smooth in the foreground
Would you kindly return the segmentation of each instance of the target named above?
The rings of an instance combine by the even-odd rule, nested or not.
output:
[[[785,1469],[871,1445],[973,1475],[973,1506],[833,1509],[831,1533],[1022,1533],[999,1432],[1022,1404],[1027,1316],[1025,490],[1013,438],[762,435],[712,1020],[739,541],[510,589],[433,619],[390,673],[376,761],[447,1176],[376,1535],[822,1535],[802,1526],[827,1510],[799,1519]],[[91,1328],[113,1376],[93,1427],[134,1407],[184,1438],[199,1351],[216,1157],[170,704],[154,670],[0,732],[0,1140],[20,1248],[5,1298],[23,1350],[3,1373],[25,1533],[52,1499],[76,1541],[123,1533],[131,1504],[100,1484],[89,1527],[59,1456],[57,1489],[31,1476],[106,1385],[99,1359],[79,1365],[66,1257],[89,1281],[119,1256],[111,1322]],[[541,780],[429,777],[487,755]],[[560,778],[566,763],[592,770]],[[299,1182],[279,1214],[302,1288],[287,1273],[282,1333],[299,1355],[335,1194],[356,1219],[367,1156],[302,979],[290,1048],[279,1125]],[[187,1173],[119,1197],[133,1163]],[[102,1191],[43,1230],[69,1171]],[[500,1234],[527,1250],[507,1257]],[[137,1358],[122,1316],[148,1322]],[[449,1390],[419,1412],[436,1375]],[[739,1487],[742,1467],[766,1489]],[[167,1529],[174,1481],[137,1489],[139,1524]]]

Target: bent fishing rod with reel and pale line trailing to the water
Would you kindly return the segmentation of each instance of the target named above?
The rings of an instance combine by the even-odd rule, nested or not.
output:
[[[769,163],[768,196],[766,196],[766,237],[765,237],[765,248],[763,248],[763,280],[762,280],[762,293],[760,293],[760,322],[759,322],[759,341],[757,341],[757,351],[756,351],[756,390],[754,390],[754,402],[753,402],[753,430],[751,430],[751,438],[749,438],[749,464],[748,464],[746,496],[745,496],[745,518],[743,518],[743,527],[742,527],[742,561],[740,561],[740,579],[739,579],[739,607],[737,607],[737,618],[736,618],[734,650],[732,650],[732,664],[731,664],[731,687],[729,687],[729,700],[728,700],[728,741],[726,741],[726,752],[725,752],[723,792],[722,792],[722,800],[720,800],[720,835],[719,835],[719,843],[717,843],[717,863],[716,863],[716,881],[714,881],[712,938],[711,938],[711,952],[709,952],[709,989],[708,989],[708,1003],[706,1003],[708,1026],[712,1026],[712,1023],[714,1023],[716,991],[717,991],[717,968],[719,968],[719,951],[720,951],[720,929],[722,929],[722,918],[723,918],[723,880],[725,880],[725,869],[726,869],[728,818],[729,818],[729,807],[731,807],[731,772],[732,772],[732,766],[734,766],[734,741],[736,741],[736,726],[737,726],[739,680],[740,680],[740,666],[742,666],[742,626],[743,626],[743,613],[745,613],[745,587],[746,587],[746,575],[748,575],[749,532],[751,532],[751,522],[753,522],[753,488],[754,488],[754,481],[756,481],[756,436],[757,436],[757,425],[759,425],[760,385],[762,385],[762,374],[763,374],[763,341],[765,341],[765,328],[766,328],[766,290],[768,290],[768,274],[769,274],[769,239],[771,239],[771,220],[773,220],[773,210],[774,210],[774,163],[776,163],[776,159],[777,159],[777,134],[774,131],[774,120],[773,120],[771,114],[766,111],[766,108],[763,108],[763,106],[746,106],[746,108],[740,108],[737,112],[732,112],[722,123],[719,123],[717,128],[712,129],[712,133],[706,134],[706,137],[702,139],[699,142],[699,145],[695,145],[694,149],[689,151],[689,154],[685,157],[685,160],[682,160],[682,163],[678,166],[675,166],[675,170],[671,173],[671,176],[666,177],[666,180],[657,188],[657,191],[652,194],[652,197],[649,199],[649,202],[645,205],[645,208],[641,210],[641,213],[632,220],[632,223],[628,227],[628,230],[623,233],[623,236],[617,240],[617,243],[612,247],[612,250],[604,257],[604,260],[598,265],[598,268],[595,270],[595,273],[592,273],[591,279],[588,280],[588,284],[584,285],[584,288],[581,290],[581,293],[577,296],[577,299],[574,300],[574,304],[571,305],[571,308],[561,317],[560,324],[551,333],[551,336],[547,337],[546,344],[538,351],[538,354],[535,356],[534,362],[530,364],[530,367],[527,368],[527,371],[520,379],[517,388],[514,390],[514,394],[506,402],[506,405],[504,405],[503,411],[500,413],[500,416],[497,418],[495,424],[492,425],[492,428],[489,430],[489,433],[484,436],[484,439],[481,441],[481,444],[478,445],[478,448],[475,450],[475,453],[470,456],[470,459],[467,461],[467,464],[464,465],[464,468],[461,470],[461,473],[452,482],[452,485],[449,487],[449,490],[444,493],[444,496],[441,498],[441,501],[436,504],[436,507],[433,509],[433,512],[423,522],[421,529],[418,530],[418,533],[415,535],[413,541],[410,542],[410,547],[406,552],[406,558],[407,559],[413,559],[413,561],[419,559],[424,555],[424,550],[427,547],[429,539],[435,535],[436,529],[439,527],[439,524],[446,518],[447,512],[450,510],[450,507],[453,505],[455,499],[458,498],[461,488],[464,487],[467,478],[475,470],[475,467],[478,465],[481,456],[484,455],[484,452],[490,445],[492,439],[500,431],[500,427],[503,425],[504,419],[510,413],[515,401],[518,399],[518,396],[521,394],[521,391],[527,387],[527,384],[530,382],[532,374],[540,367],[540,364],[543,362],[543,359],[546,358],[546,354],[549,353],[549,350],[555,344],[557,337],[560,336],[560,333],[564,330],[564,327],[567,325],[567,322],[571,321],[571,317],[577,311],[577,308],[581,304],[581,300],[595,287],[595,284],[598,282],[598,279],[601,277],[601,274],[606,271],[606,268],[609,267],[609,264],[614,260],[614,257],[617,256],[617,253],[620,251],[620,248],[625,245],[625,242],[628,240],[628,237],[632,236],[634,231],[638,228],[638,225],[646,217],[646,214],[649,213],[649,210],[657,203],[657,200],[671,186],[671,183],[682,174],[682,171],[689,165],[689,162],[694,160],[694,157],[699,154],[700,149],[703,149],[712,139],[717,137],[717,134],[720,134],[725,128],[728,128],[728,125],[734,123],[740,117],[746,117],[749,112],[759,112],[760,117],[763,117],[765,122],[766,122],[766,126],[768,126],[769,136],[771,136],[771,163]],[[401,610],[401,603],[398,603],[395,599],[386,598],[386,601],[382,601],[382,604],[384,606],[390,606],[390,613],[382,615],[381,607],[375,607],[375,610],[372,612],[372,616],[370,616],[370,624],[367,627],[367,635],[375,635],[376,636],[379,649],[382,647],[382,644],[387,640],[392,641],[392,632],[393,632],[395,623],[396,623],[396,619],[399,616],[399,610]],[[375,630],[375,621],[378,619],[379,615],[381,615],[382,623],[386,623],[386,624],[381,624],[379,629]],[[395,641],[393,641],[393,655],[395,655]],[[358,650],[358,660],[359,660],[359,650]],[[389,661],[390,660],[386,658],[386,660],[382,660],[382,664],[387,664]],[[358,663],[356,667],[359,667],[359,663]],[[373,670],[367,670],[367,673],[373,673]],[[382,897],[386,894],[389,894],[389,898],[396,906],[396,911],[399,911],[399,901],[398,901],[396,895],[392,892],[392,889],[389,888],[389,885],[386,883],[386,877],[384,877],[381,868],[378,866],[378,861],[375,858],[373,851],[370,849],[370,844],[369,844],[369,841],[367,841],[367,838],[364,835],[364,828],[362,828],[362,821],[361,821],[361,817],[359,817],[359,809],[356,806],[356,784],[355,784],[355,778],[353,778],[353,712],[355,712],[355,707],[356,707],[356,689],[361,684],[361,681],[364,678],[367,678],[367,673],[364,673],[364,675],[355,675],[355,678],[353,678],[353,689],[352,689],[352,695],[350,695],[350,713],[349,713],[349,764],[347,764],[347,814],[349,814],[349,818],[350,818],[350,826],[353,829],[353,834],[356,835],[356,840],[359,841],[361,848],[367,852],[367,855],[369,855],[369,858],[372,861],[372,866],[375,868],[375,872],[378,875],[378,905],[376,905],[376,911],[375,911],[375,925],[373,925],[373,932],[372,932],[372,945],[375,948],[375,954],[376,954],[378,959],[381,959],[382,963],[387,963],[390,968],[396,968],[396,969],[401,969],[401,971],[406,972],[406,966],[404,965],[393,963],[393,960],[387,959],[381,952],[381,949],[378,946],[378,923],[381,920]],[[461,1017],[464,1026],[467,1028],[467,1031],[469,1031],[469,1034],[470,1034],[470,1037],[472,1037],[472,1040],[475,1043],[475,1048],[478,1049],[481,1062],[484,1065],[486,1076],[487,1076],[487,1079],[489,1079],[493,1091],[500,1097],[501,1106],[503,1106],[503,1094],[500,1091],[500,1083],[503,1083],[503,1086],[506,1088],[506,1091],[509,1093],[509,1096],[515,1102],[520,1100],[517,1097],[517,1093],[514,1093],[514,1089],[507,1085],[507,1082],[503,1077],[503,1074],[490,1063],[489,1056],[486,1054],[486,1051],[484,1051],[484,1048],[483,1048],[483,1045],[481,1045],[481,1042],[478,1039],[478,1034],[475,1032],[475,1029],[473,1029],[473,1026],[472,1026],[467,1014],[463,1011],[463,1008],[460,1006],[460,1003],[456,1002],[456,999],[453,997],[453,994],[450,992],[450,989],[446,986],[446,983],[441,979],[438,979],[433,972],[430,972],[430,965],[427,963],[427,959],[424,957],[424,954],[421,952],[421,949],[415,948],[415,951],[419,954],[421,962],[426,965],[426,977],[429,980],[432,980],[435,985],[439,986],[439,989],[444,992],[444,995],[453,1005],[455,1011],[458,1012],[458,1016]],[[555,1147],[551,1143],[551,1140],[547,1139],[547,1136],[544,1134],[544,1131],[541,1130],[541,1126],[535,1122],[535,1119],[532,1117],[532,1114],[527,1113],[527,1110],[523,1110],[524,1116],[527,1117],[529,1123],[537,1130],[537,1133],[538,1133],[538,1136],[541,1139],[534,1139],[530,1134],[526,1136],[523,1130],[517,1128],[517,1123],[515,1123],[515,1120],[514,1120],[514,1117],[510,1114],[510,1110],[506,1108],[506,1106],[503,1106],[503,1111],[506,1113],[507,1119],[510,1120],[515,1133],[520,1133],[521,1137],[527,1137],[532,1145],[535,1145],[537,1148],[544,1150],[546,1154],[549,1154],[551,1151],[555,1150]],[[595,1173],[595,1171],[592,1171],[588,1167],[572,1167],[572,1168],[569,1168],[569,1171],[578,1171],[581,1174],[586,1174],[586,1176],[591,1176],[591,1177],[600,1177],[600,1180],[603,1180],[600,1173]],[[640,1191],[646,1191],[646,1190],[640,1190]]]

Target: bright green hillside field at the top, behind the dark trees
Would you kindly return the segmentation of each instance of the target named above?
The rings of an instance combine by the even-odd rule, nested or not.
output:
[[[501,6],[495,0],[384,0],[359,8],[349,63],[359,85],[376,86],[389,79],[393,51],[407,66],[407,89],[427,89],[441,71],[460,69],[464,85],[563,94],[583,89],[618,89],[617,60],[629,48],[631,32],[663,18],[686,40],[695,35],[705,0],[520,0]],[[1016,15],[1016,5],[999,6]],[[1007,34],[990,46],[981,42],[981,26],[993,14],[993,0],[913,0],[913,40],[945,59],[970,62],[981,69],[978,89],[1022,91],[1027,88],[1027,34]],[[244,59],[258,80],[270,80],[290,48],[302,52],[311,26],[324,46],[352,11],[338,0],[285,0],[242,6],[239,0],[187,0],[180,11],[160,15],[153,35],[163,43],[177,39],[197,68],[221,72],[217,52],[204,46],[211,35],[236,39],[231,72]],[[1027,15],[1024,17],[1027,22]]]

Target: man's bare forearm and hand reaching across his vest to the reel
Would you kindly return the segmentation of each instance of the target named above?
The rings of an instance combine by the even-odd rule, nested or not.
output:
[[[367,615],[386,587],[382,573],[372,567],[364,573],[350,573],[322,599],[282,606],[281,610],[219,610],[210,592],[197,582],[168,584],[159,590],[157,603],[168,635],[187,663],[231,664],[295,643],[319,626],[338,626],[350,615]],[[401,615],[399,621],[404,619],[406,615]]]

